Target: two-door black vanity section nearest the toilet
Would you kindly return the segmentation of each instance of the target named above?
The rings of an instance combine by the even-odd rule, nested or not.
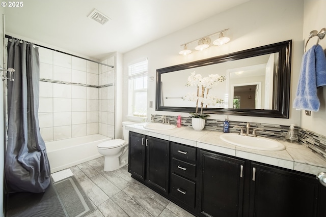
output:
[[[167,140],[129,132],[129,172],[165,195],[169,189],[169,148]]]

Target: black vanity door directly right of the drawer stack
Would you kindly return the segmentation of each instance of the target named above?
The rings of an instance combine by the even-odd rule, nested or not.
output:
[[[200,151],[201,216],[242,216],[244,161]]]

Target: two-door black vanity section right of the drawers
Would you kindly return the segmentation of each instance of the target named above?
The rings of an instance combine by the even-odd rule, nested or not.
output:
[[[326,190],[312,175],[205,150],[199,154],[200,216],[325,216]]]

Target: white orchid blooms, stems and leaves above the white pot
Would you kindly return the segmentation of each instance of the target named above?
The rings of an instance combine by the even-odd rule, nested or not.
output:
[[[191,75],[188,77],[186,86],[197,86],[197,94],[189,93],[183,97],[183,100],[196,102],[196,112],[190,113],[191,116],[189,117],[202,118],[206,120],[209,115],[203,113],[204,104],[206,104],[207,107],[207,105],[216,105],[218,103],[224,103],[222,99],[210,96],[209,90],[214,85],[225,80],[225,76],[220,76],[218,74],[208,75],[208,77],[202,78],[200,74],[196,75],[195,72],[191,73]],[[201,107],[200,114],[198,113],[198,105],[200,105]]]

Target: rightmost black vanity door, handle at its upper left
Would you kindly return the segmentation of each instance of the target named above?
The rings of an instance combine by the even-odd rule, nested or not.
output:
[[[257,163],[251,171],[249,216],[318,216],[315,177]]]

